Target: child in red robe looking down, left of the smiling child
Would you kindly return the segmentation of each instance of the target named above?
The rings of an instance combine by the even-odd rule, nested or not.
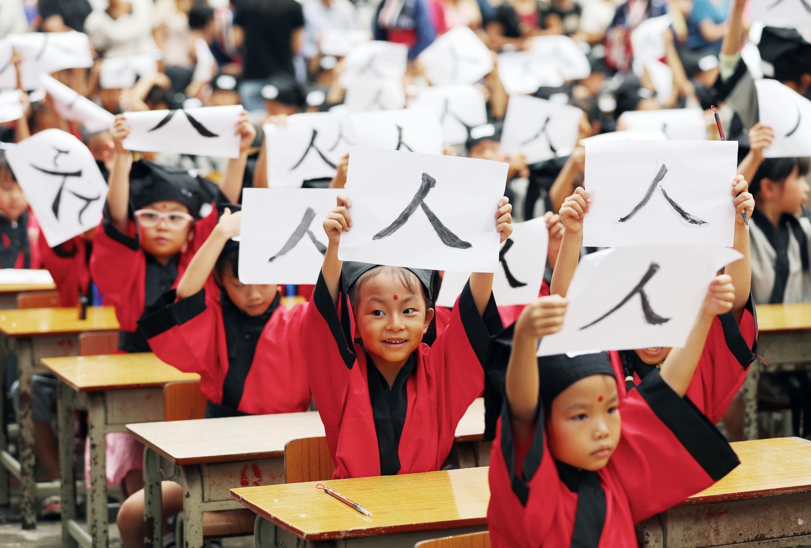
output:
[[[288,310],[276,284],[239,282],[239,243],[233,238],[241,220],[242,212],[225,209],[177,289],[162,296],[138,325],[161,360],[200,373],[206,418],[307,411],[310,386],[299,334],[307,304]],[[212,272],[219,300],[204,289]],[[164,481],[161,493],[164,516],[182,511],[180,485]],[[124,546],[142,546],[143,490],[122,504],[118,530]]]

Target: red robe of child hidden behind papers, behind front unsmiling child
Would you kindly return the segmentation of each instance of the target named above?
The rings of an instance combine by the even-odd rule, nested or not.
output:
[[[616,351],[608,354],[616,373],[617,392],[623,398],[627,387],[622,358]],[[727,412],[732,397],[744,384],[749,365],[756,358],[757,317],[750,296],[740,324],[731,312],[714,318],[693,381],[687,389],[687,397],[712,424],[718,423]],[[634,372],[633,383],[638,385],[641,380]]]

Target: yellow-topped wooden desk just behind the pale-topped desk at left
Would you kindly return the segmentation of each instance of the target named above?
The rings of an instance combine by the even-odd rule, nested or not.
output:
[[[152,352],[46,358],[42,363],[61,381],[58,387],[60,475],[73,477],[75,446],[73,411],[88,409],[90,438],[90,493],[88,526],[76,521],[76,490],[73,481],[62,481],[62,546],[106,548],[108,544],[105,434],[125,432],[124,425],[157,421],[164,417],[163,386],[167,382],[191,381],[197,373],[181,373]]]

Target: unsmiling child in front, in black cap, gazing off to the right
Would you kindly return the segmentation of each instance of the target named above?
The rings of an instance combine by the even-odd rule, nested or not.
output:
[[[732,448],[684,397],[714,317],[732,309],[731,279],[710,283],[685,347],[624,399],[605,352],[535,356],[538,339],[563,324],[563,297],[521,313],[491,455],[494,548],[636,548],[634,524],[736,467]]]

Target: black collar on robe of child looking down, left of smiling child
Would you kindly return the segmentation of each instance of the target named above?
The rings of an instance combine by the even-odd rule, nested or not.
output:
[[[251,317],[228,298],[225,291],[220,293],[222,304],[222,321],[225,324],[225,345],[228,348],[228,373],[222,383],[221,406],[237,409],[245,391],[245,379],[251,371],[256,344],[262,336],[268,320],[281,303],[281,294],[276,298],[261,316]],[[207,410],[208,411],[208,410]]]

